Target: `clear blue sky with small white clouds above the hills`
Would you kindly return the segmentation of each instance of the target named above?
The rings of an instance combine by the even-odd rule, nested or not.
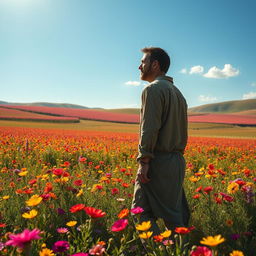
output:
[[[0,100],[139,107],[145,46],[189,107],[256,97],[254,0],[0,0]]]

